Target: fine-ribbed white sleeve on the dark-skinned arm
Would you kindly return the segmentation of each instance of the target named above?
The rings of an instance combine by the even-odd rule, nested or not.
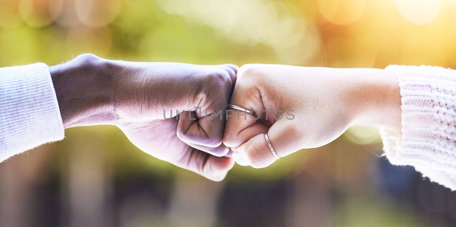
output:
[[[47,65],[0,68],[0,162],[63,136]]]

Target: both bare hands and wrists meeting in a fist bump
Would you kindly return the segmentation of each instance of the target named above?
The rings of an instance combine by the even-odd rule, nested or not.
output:
[[[213,181],[223,180],[234,161],[255,168],[274,162],[265,133],[282,157],[323,146],[352,125],[401,131],[397,78],[380,69],[238,68],[85,54],[49,71],[65,128],[118,126],[142,151]]]

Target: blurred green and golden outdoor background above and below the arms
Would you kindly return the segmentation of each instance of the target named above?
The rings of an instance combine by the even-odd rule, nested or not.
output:
[[[0,0],[0,66],[131,61],[456,67],[455,0]],[[0,225],[455,226],[456,197],[391,166],[378,129],[223,182],[155,159],[114,126],[0,164]],[[24,141],[26,142],[26,141]]]

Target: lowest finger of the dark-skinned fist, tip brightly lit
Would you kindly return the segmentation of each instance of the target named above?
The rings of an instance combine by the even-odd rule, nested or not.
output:
[[[222,181],[228,171],[233,168],[234,161],[228,157],[216,157],[206,152],[192,149],[187,152],[176,166],[196,172],[212,181]]]

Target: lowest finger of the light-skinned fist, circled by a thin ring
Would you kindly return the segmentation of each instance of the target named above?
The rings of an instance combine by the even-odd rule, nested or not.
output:
[[[268,131],[269,141],[279,157],[298,151],[302,136],[295,125],[286,121],[277,121]],[[237,153],[242,153],[237,154]],[[241,165],[263,168],[272,164],[276,158],[269,148],[264,134],[259,134],[234,150],[233,158]]]

